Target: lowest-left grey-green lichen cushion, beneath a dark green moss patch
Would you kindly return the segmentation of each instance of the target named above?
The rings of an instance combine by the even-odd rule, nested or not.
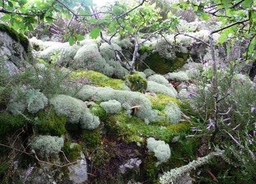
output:
[[[31,148],[42,158],[57,155],[63,145],[63,138],[56,136],[38,136],[30,143]]]

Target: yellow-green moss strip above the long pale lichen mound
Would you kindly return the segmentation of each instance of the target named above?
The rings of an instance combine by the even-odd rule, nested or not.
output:
[[[76,71],[72,74],[71,79],[78,79],[81,77],[90,79],[90,82],[97,87],[111,87],[117,90],[125,88],[125,82],[120,79],[109,78],[108,76],[97,71]]]

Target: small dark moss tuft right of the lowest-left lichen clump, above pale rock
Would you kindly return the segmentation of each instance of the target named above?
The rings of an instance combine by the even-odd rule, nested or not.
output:
[[[67,142],[62,147],[62,151],[70,162],[75,162],[80,157],[82,148],[76,143]]]

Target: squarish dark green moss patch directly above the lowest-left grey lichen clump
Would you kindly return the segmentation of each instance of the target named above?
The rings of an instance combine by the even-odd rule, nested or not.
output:
[[[51,134],[51,136],[61,136],[65,134],[67,119],[65,116],[56,115],[54,110],[48,112],[38,112],[37,130],[40,134]]]

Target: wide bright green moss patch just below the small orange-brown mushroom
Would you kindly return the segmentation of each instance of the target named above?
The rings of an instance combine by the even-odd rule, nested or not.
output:
[[[108,115],[105,125],[109,134],[118,136],[127,143],[141,142],[143,138],[156,138],[169,143],[174,136],[185,134],[190,129],[186,122],[169,124],[163,121],[147,125],[138,117],[129,118],[124,112]]]

